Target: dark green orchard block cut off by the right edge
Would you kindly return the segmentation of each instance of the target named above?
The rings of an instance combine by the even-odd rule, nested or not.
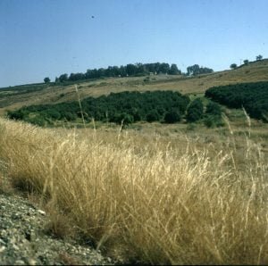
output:
[[[249,116],[268,121],[268,82],[211,87],[205,96],[230,108],[244,107]]]

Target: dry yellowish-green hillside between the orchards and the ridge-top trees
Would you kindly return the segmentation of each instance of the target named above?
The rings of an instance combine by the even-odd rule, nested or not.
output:
[[[247,66],[242,66],[235,71],[219,71],[209,75],[185,78],[174,76],[152,76],[149,81],[140,78],[121,79],[98,79],[94,81],[80,82],[80,96],[101,96],[110,92],[120,92],[124,90],[155,90],[172,89],[178,90],[182,94],[201,94],[208,87],[239,83],[268,80],[268,60],[251,62]],[[38,87],[38,86],[37,86]],[[54,104],[65,101],[77,100],[73,85],[70,86],[39,86],[37,90],[21,91],[11,88],[0,90],[0,114],[5,110],[14,110],[23,105],[31,104]],[[23,92],[23,93],[21,93]]]

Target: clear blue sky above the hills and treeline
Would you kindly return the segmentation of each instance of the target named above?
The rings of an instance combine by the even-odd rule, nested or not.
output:
[[[136,62],[268,56],[268,0],[0,0],[0,87]]]

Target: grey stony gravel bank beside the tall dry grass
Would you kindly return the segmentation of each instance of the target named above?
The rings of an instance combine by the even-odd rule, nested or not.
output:
[[[90,246],[49,235],[46,212],[0,190],[0,265],[113,265]]]

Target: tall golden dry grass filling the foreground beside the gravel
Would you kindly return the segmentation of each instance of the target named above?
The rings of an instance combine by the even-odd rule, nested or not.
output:
[[[187,138],[5,120],[0,139],[8,177],[38,192],[60,235],[91,239],[124,262],[268,263],[267,162],[248,138],[243,164],[231,141],[216,151]]]

